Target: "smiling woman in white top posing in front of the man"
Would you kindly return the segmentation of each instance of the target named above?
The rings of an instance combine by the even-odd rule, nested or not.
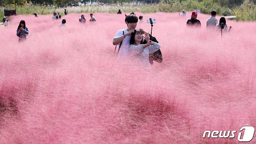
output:
[[[144,36],[142,34],[145,35],[146,44],[143,44]],[[151,65],[149,63],[149,54],[153,54],[161,48],[160,44],[149,40],[149,38],[149,34],[143,29],[135,29],[134,33],[131,35],[129,49],[131,56],[139,58],[141,62],[145,63],[147,66]]]

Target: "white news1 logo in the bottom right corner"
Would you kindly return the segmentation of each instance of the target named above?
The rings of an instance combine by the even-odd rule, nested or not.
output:
[[[244,130],[244,135],[243,135],[243,138],[241,139],[243,130]],[[212,137],[212,138],[234,138],[236,132],[237,131],[235,131],[235,130],[233,130],[233,131],[228,130],[228,132],[226,130],[224,130],[224,131],[214,130],[212,132],[210,132],[209,130],[206,130],[205,132],[203,132],[203,138],[205,138],[206,134],[208,134],[207,138],[210,138],[210,137]],[[253,139],[254,132],[255,132],[254,127],[242,127],[239,130],[237,140],[240,142],[249,142]]]

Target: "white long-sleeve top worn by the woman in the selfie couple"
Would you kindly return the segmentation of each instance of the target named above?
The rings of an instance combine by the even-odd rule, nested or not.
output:
[[[130,45],[130,55],[135,56],[140,59],[143,63],[150,66],[149,63],[149,54],[152,54],[156,51],[158,51],[161,48],[161,45],[159,43],[154,43],[154,45],[150,45],[143,48],[143,45]]]

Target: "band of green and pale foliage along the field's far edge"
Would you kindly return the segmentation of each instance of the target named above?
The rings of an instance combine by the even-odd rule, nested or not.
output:
[[[27,2],[29,1],[29,2]],[[88,2],[82,0],[81,2]],[[122,12],[181,12],[185,7],[188,11],[200,9],[202,13],[209,14],[216,10],[218,15],[237,16],[237,20],[247,21],[256,19],[256,0],[161,0],[158,4],[140,4],[139,7],[132,4],[131,0],[97,0],[97,4],[71,7],[77,0],[0,0],[0,17],[3,17],[4,9],[16,9],[17,14],[52,14],[54,11],[63,14],[63,7],[69,13],[81,12],[109,12],[115,13],[118,9]],[[111,2],[110,2],[111,1]],[[139,0],[137,0],[138,2]],[[99,2],[117,2],[114,4],[103,4]],[[126,3],[124,3],[126,2]],[[128,3],[127,3],[128,2]],[[136,1],[135,1],[136,2]],[[142,1],[143,2],[143,1]]]

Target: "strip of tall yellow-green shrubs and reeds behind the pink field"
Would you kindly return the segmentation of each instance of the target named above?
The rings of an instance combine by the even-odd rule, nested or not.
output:
[[[237,16],[238,21],[255,20],[256,10],[255,4],[249,0],[245,0],[242,5],[235,7],[232,10],[228,7],[223,7],[216,0],[161,0],[158,4],[142,4],[136,5],[132,3],[122,3],[119,5],[115,4],[104,4],[98,3],[97,5],[80,6],[80,7],[66,7],[69,13],[90,13],[90,12],[109,12],[116,13],[118,9],[122,12],[142,12],[142,13],[153,13],[153,12],[181,12],[182,9],[188,8],[188,11],[193,9],[200,9],[202,13],[209,14],[211,10],[216,10],[218,15],[223,16]],[[60,12],[63,15],[63,7],[56,8],[45,5],[35,5],[32,3],[25,3],[24,5],[15,6],[14,4],[0,7],[0,17],[4,16],[4,9],[15,9],[17,14],[53,14],[53,12]]]

